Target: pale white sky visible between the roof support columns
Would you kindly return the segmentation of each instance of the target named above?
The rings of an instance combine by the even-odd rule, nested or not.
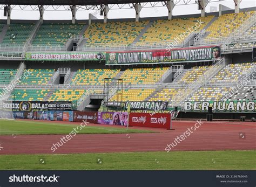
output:
[[[173,15],[189,15],[189,14],[196,14],[200,13],[200,10],[197,10],[197,4],[194,2],[194,0],[175,0],[176,2],[179,2],[176,6],[174,6],[173,9]],[[190,1],[189,4],[184,5],[184,2]],[[234,1],[233,0],[221,0],[220,2],[217,2],[218,0],[211,0],[210,3],[206,6],[206,12],[210,12],[210,8],[215,6],[217,8],[217,11],[219,9],[219,4],[225,5],[228,8],[234,9]],[[158,6],[161,6],[159,3]],[[241,0],[240,8],[250,8],[255,7],[256,1],[255,0]],[[122,10],[110,10],[108,17],[110,19],[112,18],[135,18],[135,10],[129,8],[128,5],[126,5],[127,9]],[[16,10],[15,10],[16,9]],[[62,9],[62,10],[61,10]],[[99,11],[96,10],[78,10],[77,11],[77,19],[88,19],[89,13],[92,13],[93,15],[96,15],[98,19],[103,19],[103,16],[99,15]],[[161,16],[167,16],[168,11],[166,6],[161,7],[154,7],[154,8],[143,8],[142,11],[140,11],[140,17],[161,17]],[[6,19],[6,17],[3,16],[3,8],[0,10],[0,19]],[[11,19],[39,19],[39,11],[31,11],[29,8],[28,10],[17,10],[14,8],[11,12]],[[72,19],[72,13],[71,11],[65,11],[63,8],[60,8],[59,11],[54,10],[47,10],[44,12],[44,19],[47,20],[69,20]]]

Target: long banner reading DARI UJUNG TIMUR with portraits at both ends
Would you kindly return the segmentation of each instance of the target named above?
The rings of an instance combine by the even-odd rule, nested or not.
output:
[[[106,52],[106,65],[163,64],[220,59],[220,46],[189,47],[180,49]]]

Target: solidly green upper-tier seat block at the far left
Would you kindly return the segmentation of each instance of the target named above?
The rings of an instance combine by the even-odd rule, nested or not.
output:
[[[11,24],[3,38],[3,44],[25,44],[35,25],[33,24]]]

